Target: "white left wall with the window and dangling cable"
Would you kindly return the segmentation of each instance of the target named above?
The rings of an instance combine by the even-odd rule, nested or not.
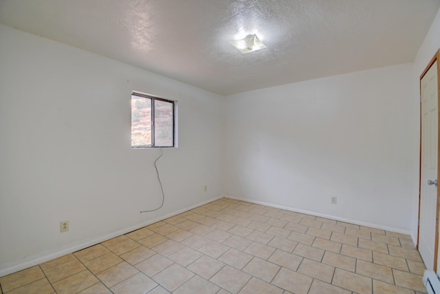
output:
[[[0,40],[0,276],[221,196],[223,97],[4,25]],[[164,207],[142,215],[159,150],[130,147],[131,90],[179,107]]]

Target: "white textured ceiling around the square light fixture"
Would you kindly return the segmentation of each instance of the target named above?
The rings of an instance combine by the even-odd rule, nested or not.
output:
[[[440,0],[0,0],[0,23],[227,95],[411,62]],[[267,48],[241,54],[256,33]]]

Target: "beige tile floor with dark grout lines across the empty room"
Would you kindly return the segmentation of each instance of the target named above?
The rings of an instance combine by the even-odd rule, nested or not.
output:
[[[222,198],[0,278],[12,293],[426,293],[408,235]]]

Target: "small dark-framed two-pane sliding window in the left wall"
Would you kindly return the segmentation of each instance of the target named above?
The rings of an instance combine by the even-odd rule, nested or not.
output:
[[[131,93],[131,148],[174,147],[174,102]]]

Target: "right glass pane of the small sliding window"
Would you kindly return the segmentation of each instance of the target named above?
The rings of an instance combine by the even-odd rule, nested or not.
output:
[[[154,101],[155,146],[173,146],[173,109],[173,103],[160,100]]]

